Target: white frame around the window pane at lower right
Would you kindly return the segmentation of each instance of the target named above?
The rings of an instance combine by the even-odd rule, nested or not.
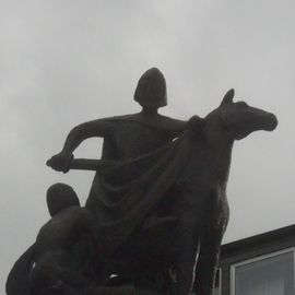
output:
[[[271,257],[280,256],[283,253],[292,252],[293,253],[293,267],[294,267],[294,287],[295,287],[295,247],[288,247],[279,251],[273,251],[264,255],[259,255],[257,257],[246,259],[236,263],[231,264],[231,275],[229,275],[229,294],[231,295],[236,295],[236,268],[240,266],[246,266],[252,262],[257,262],[259,260],[268,259]]]

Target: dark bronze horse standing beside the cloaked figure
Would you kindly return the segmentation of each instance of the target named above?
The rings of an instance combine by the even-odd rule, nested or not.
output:
[[[190,294],[194,281],[196,295],[213,294],[221,241],[228,222],[226,185],[234,141],[257,130],[272,131],[278,125],[274,115],[244,102],[234,103],[233,97],[231,90],[205,118],[192,117],[187,130],[165,148],[177,150],[185,165],[174,174],[175,180],[165,196],[155,200],[145,210],[148,213],[141,212],[146,216],[134,234],[105,257],[102,273],[138,280],[160,269],[175,269],[178,295]],[[74,161],[73,168],[85,168],[83,162]],[[149,219],[164,222],[149,227]]]

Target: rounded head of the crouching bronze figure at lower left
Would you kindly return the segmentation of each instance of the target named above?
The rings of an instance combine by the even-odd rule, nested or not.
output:
[[[70,205],[80,205],[72,187],[64,184],[55,184],[47,190],[47,206],[50,215],[55,215]]]

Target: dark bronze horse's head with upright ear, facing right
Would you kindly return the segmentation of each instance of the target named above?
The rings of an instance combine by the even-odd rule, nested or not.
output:
[[[245,102],[234,103],[234,90],[228,91],[220,107],[208,116],[217,119],[217,123],[233,140],[244,139],[257,130],[275,129],[278,119],[273,114],[251,107]]]

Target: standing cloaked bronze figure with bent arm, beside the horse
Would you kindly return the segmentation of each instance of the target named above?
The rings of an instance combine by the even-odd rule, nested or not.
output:
[[[48,162],[52,168],[66,173],[73,151],[83,140],[104,139],[102,160],[115,164],[96,172],[86,208],[95,215],[94,235],[103,243],[105,255],[111,253],[140,226],[186,162],[185,153],[180,155],[178,143],[173,140],[187,129],[188,122],[157,113],[167,104],[166,82],[157,69],[141,76],[134,99],[142,111],[73,128],[62,151]]]

